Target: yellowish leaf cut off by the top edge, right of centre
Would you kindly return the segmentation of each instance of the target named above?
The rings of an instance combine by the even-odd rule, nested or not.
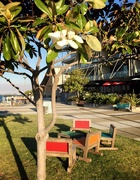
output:
[[[103,9],[106,6],[103,0],[85,0],[85,2],[92,4],[94,9]]]

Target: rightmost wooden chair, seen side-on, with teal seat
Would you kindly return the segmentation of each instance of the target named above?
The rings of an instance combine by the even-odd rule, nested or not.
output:
[[[110,124],[109,132],[102,132],[100,139],[100,150],[118,150],[114,147],[115,138],[116,138],[116,127],[113,124]]]

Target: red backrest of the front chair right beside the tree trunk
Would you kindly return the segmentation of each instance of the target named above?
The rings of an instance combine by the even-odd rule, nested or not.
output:
[[[71,145],[71,139],[48,138],[46,142],[46,151],[47,153],[70,153]]]

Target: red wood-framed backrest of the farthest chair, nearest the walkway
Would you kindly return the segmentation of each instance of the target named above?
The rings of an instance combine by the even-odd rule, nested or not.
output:
[[[74,119],[73,127],[70,128],[70,131],[88,131],[91,132],[91,120],[90,119]]]

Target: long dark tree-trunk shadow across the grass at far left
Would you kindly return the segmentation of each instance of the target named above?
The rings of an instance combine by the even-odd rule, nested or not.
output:
[[[18,171],[20,173],[20,176],[21,176],[21,180],[29,180],[28,176],[27,176],[27,173],[25,171],[25,168],[22,164],[22,161],[20,159],[20,156],[18,154],[18,151],[16,149],[16,146],[13,142],[13,139],[12,139],[12,136],[11,136],[11,133],[10,133],[10,130],[8,129],[8,126],[7,124],[10,122],[10,121],[5,121],[5,117],[8,117],[8,116],[11,116],[11,115],[5,115],[4,117],[0,117],[0,126],[3,126],[3,129],[5,131],[5,134],[6,134],[6,137],[7,137],[7,140],[10,144],[10,147],[11,147],[11,150],[12,150],[12,153],[13,153],[13,156],[14,156],[14,159],[15,159],[15,162],[17,164],[17,167],[18,167]],[[12,122],[19,122],[19,123],[22,123],[22,124],[25,124],[25,123],[29,123],[30,121],[27,119],[27,118],[22,118],[21,115],[12,115],[15,117],[15,119],[11,120]]]

